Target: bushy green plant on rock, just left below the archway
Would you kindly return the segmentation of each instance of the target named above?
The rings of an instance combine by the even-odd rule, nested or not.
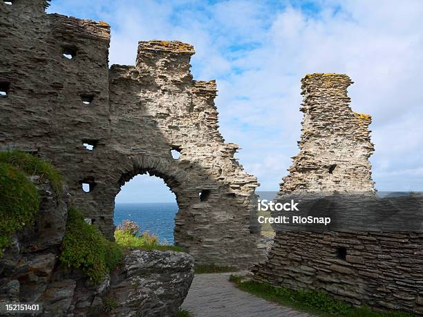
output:
[[[63,265],[82,269],[94,284],[98,284],[121,259],[122,249],[118,244],[104,238],[100,231],[84,220],[77,209],[68,209],[60,256]]]

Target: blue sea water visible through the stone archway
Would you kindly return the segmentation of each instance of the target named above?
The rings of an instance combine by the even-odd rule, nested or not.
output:
[[[115,204],[113,221],[117,226],[122,220],[135,221],[141,231],[156,233],[160,242],[173,244],[175,215],[178,212],[176,202],[144,202],[138,204]]]

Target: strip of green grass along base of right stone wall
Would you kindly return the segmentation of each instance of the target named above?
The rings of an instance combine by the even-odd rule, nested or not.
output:
[[[281,305],[290,306],[301,311],[308,311],[317,316],[345,317],[411,317],[413,315],[401,311],[373,311],[369,307],[353,307],[347,302],[334,300],[323,291],[294,291],[285,287],[258,283],[251,280],[243,282],[243,278],[230,276],[229,280],[243,291],[265,298]]]

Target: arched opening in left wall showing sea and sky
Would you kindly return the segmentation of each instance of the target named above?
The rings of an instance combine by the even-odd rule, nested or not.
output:
[[[113,223],[117,229],[135,222],[138,236],[156,236],[160,244],[173,244],[175,217],[179,211],[176,194],[171,191],[172,181],[153,171],[124,174],[120,191],[115,196]],[[170,184],[169,184],[170,183]]]

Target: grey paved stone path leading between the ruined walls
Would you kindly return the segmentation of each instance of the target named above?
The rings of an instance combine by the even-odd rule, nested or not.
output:
[[[311,315],[268,302],[229,282],[230,273],[198,274],[194,276],[182,308],[194,317],[267,317]]]

